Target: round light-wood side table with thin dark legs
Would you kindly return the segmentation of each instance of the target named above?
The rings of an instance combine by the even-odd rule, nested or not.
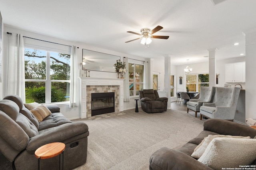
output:
[[[62,170],[64,169],[64,150],[65,144],[61,142],[48,143],[36,149],[35,156],[38,158],[38,170],[40,170],[40,160],[53,158],[62,154]],[[61,162],[61,161],[60,161]]]

